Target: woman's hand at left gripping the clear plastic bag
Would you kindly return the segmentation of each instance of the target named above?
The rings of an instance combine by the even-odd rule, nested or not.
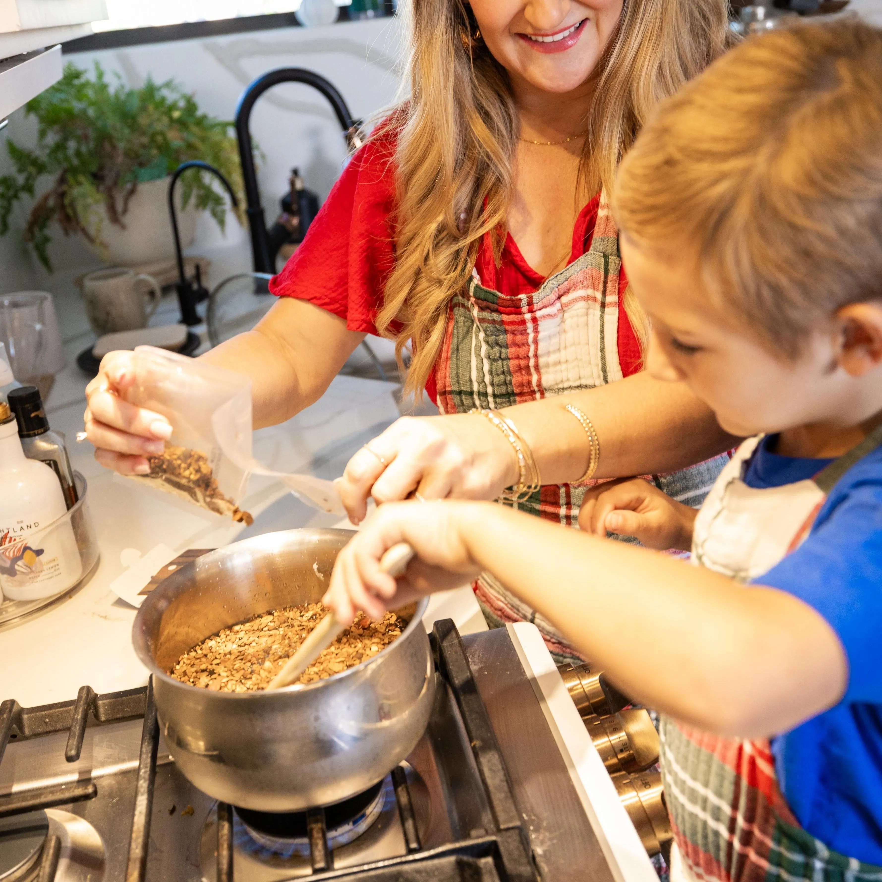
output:
[[[134,354],[110,352],[86,386],[86,437],[95,459],[121,475],[146,475],[146,458],[161,453],[172,432],[164,416],[124,400],[135,379]]]

